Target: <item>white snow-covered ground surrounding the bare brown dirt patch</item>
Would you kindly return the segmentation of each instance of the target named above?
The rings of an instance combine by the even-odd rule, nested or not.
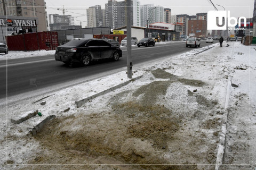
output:
[[[227,137],[226,149],[225,149],[225,153],[223,153],[224,161],[222,163],[226,165],[220,166],[219,169],[252,169],[252,167],[256,166],[256,157],[255,157],[256,155],[256,149],[255,149],[256,148],[256,131],[255,131],[256,130],[256,97],[255,97],[256,90],[254,88],[256,84],[256,58],[255,58],[256,49],[254,49],[255,47],[253,46],[251,47],[243,46],[238,42],[233,42],[229,44],[230,44],[229,47],[222,47],[222,48],[220,48],[218,44],[212,45],[213,48],[203,53],[199,53],[197,55],[194,55],[194,54],[198,53],[199,51],[198,49],[194,49],[185,54],[178,55],[172,58],[167,58],[166,60],[161,62],[158,61],[158,63],[154,63],[154,64],[151,63],[143,67],[134,67],[133,71],[135,72],[133,72],[133,77],[138,77],[140,75],[143,75],[141,79],[131,82],[122,88],[114,90],[113,92],[109,92],[106,95],[92,99],[80,108],[76,107],[75,101],[92,96],[94,94],[97,94],[100,91],[111,88],[113,86],[116,86],[117,84],[120,84],[124,81],[129,80],[127,78],[125,71],[119,72],[113,75],[109,75],[108,77],[105,77],[105,78],[93,80],[87,83],[79,84],[74,87],[63,89],[58,92],[54,92],[54,94],[48,94],[48,95],[37,97],[37,98],[30,98],[30,99],[27,99],[26,101],[22,100],[12,105],[6,104],[6,106],[3,106],[1,108],[2,112],[0,113],[1,143],[3,146],[2,148],[0,148],[0,152],[3,153],[0,156],[1,165],[3,165],[2,168],[26,169],[28,167],[32,167],[34,169],[46,169],[44,165],[47,165],[47,164],[78,164],[75,161],[77,159],[77,157],[75,156],[74,156],[74,159],[70,158],[70,156],[66,158],[65,155],[64,156],[58,155],[58,153],[56,152],[55,153],[56,155],[54,156],[54,158],[51,157],[50,155],[54,154],[54,151],[52,150],[52,148],[46,145],[46,143],[43,143],[43,144],[40,143],[40,140],[35,140],[34,138],[31,138],[28,135],[27,128],[41,122],[48,115],[56,115],[57,117],[66,117],[66,116],[74,115],[75,117],[78,116],[78,118],[79,116],[81,116],[81,120],[83,120],[82,118],[83,115],[85,116],[89,115],[89,118],[91,115],[91,117],[99,117],[99,120],[100,120],[100,117],[102,117],[103,120],[105,119],[104,117],[106,117],[106,121],[107,121],[108,120],[107,115],[108,114],[111,115],[111,112],[115,112],[115,110],[111,111],[111,106],[109,104],[111,103],[111,100],[118,98],[118,96],[119,96],[118,100],[120,101],[127,101],[129,100],[129,98],[133,99],[131,95],[131,91],[135,91],[142,87],[147,87],[147,85],[151,83],[154,84],[155,82],[163,81],[164,78],[156,77],[156,75],[159,75],[159,73],[157,72],[159,70],[155,71],[155,73],[151,73],[151,71],[153,70],[161,69],[161,72],[164,71],[165,72],[164,74],[170,73],[174,75],[175,79],[177,78],[180,79],[180,82],[173,83],[169,87],[169,90],[166,91],[165,96],[163,95],[156,96],[158,105],[161,105],[161,106],[163,105],[166,108],[171,109],[173,114],[177,114],[177,115],[179,114],[178,111],[186,113],[186,109],[187,109],[188,117],[187,118],[184,117],[182,122],[183,124],[186,122],[182,126],[183,132],[186,132],[186,133],[183,134],[184,138],[182,136],[180,137],[181,139],[183,139],[180,142],[181,142],[181,145],[183,144],[186,145],[187,142],[194,143],[193,146],[190,148],[186,148],[184,146],[184,149],[186,148],[185,149],[186,151],[185,151],[185,154],[183,153],[183,155],[182,155],[182,152],[179,152],[179,150],[176,150],[174,146],[173,147],[169,146],[170,148],[168,146],[163,146],[163,148],[167,147],[167,151],[169,152],[166,151],[163,153],[162,151],[155,150],[156,152],[158,152],[159,156],[162,156],[161,159],[165,160],[167,158],[169,160],[174,161],[174,162],[169,162],[169,164],[201,164],[201,165],[198,165],[197,168],[199,169],[202,169],[202,167],[204,167],[205,169],[214,168],[212,164],[215,164],[214,160],[216,159],[215,156],[217,156],[217,151],[218,151],[217,141],[219,141],[216,138],[214,138],[214,136],[219,137],[218,134],[220,134],[219,131],[217,131],[217,133],[214,131],[218,130],[219,128],[221,129],[221,123],[223,123],[223,119],[225,119],[225,116],[228,116],[227,133],[226,133],[226,137]],[[223,44],[223,46],[225,45],[226,44]],[[207,47],[204,47],[204,49],[205,48]],[[187,82],[187,80],[195,81],[196,82],[195,84],[197,85],[195,84],[191,85],[191,82]],[[233,81],[233,83],[238,84],[238,87],[234,88],[234,87],[228,86],[229,80]],[[185,82],[185,85],[182,85],[181,82]],[[207,85],[201,86],[202,85],[201,83],[202,84],[206,83]],[[160,88],[160,86],[158,88]],[[197,92],[196,92],[196,95],[198,95],[197,97],[204,96],[200,98],[201,100],[203,98],[203,100],[205,101],[200,100],[196,102],[194,101],[193,97],[192,98],[189,97],[191,94],[188,95],[187,91],[190,91],[190,92],[194,91],[195,88],[197,89]],[[157,93],[157,89],[155,89],[154,91],[151,91],[151,93],[153,94],[155,92]],[[228,91],[228,94],[226,96],[227,91]],[[120,96],[123,96],[121,94],[125,94],[124,96],[126,96],[127,98],[120,97]],[[145,95],[146,94],[144,94],[144,96]],[[49,96],[49,97],[43,99],[44,101],[46,101],[45,105],[41,105],[40,104],[41,101],[34,103],[40,98],[43,98],[46,96]],[[139,99],[143,98],[143,95],[139,95],[138,98]],[[160,99],[160,98],[163,98],[163,99]],[[212,102],[216,101],[218,104],[214,103],[216,104],[216,106],[211,106],[212,110],[211,109],[207,110],[205,109],[206,107],[204,108],[202,107],[202,105],[204,105],[205,103],[207,104],[208,100]],[[228,103],[226,101],[228,101]],[[198,105],[199,102],[201,102],[202,104]],[[183,105],[183,103],[185,103],[185,105]],[[180,106],[180,104],[182,106]],[[174,109],[173,108],[174,106],[179,109],[178,110]],[[121,105],[121,107],[123,106]],[[64,112],[65,109],[67,108],[70,108],[69,111]],[[38,115],[34,116],[30,118],[28,121],[22,122],[19,125],[14,125],[11,123],[10,121],[11,117],[17,116],[17,115],[26,113],[27,111],[35,110],[35,109],[38,109],[38,111],[41,112],[43,116],[42,117],[39,117]],[[198,114],[200,114],[201,112],[204,112],[205,115],[199,116],[195,114],[194,118],[189,117],[189,109],[192,109],[193,111],[195,109],[195,111],[198,111]],[[205,111],[203,111],[202,109],[205,109]],[[98,113],[100,113],[99,116],[97,116]],[[115,117],[116,116],[118,117],[118,114],[115,115]],[[131,116],[134,116],[134,115],[131,115]],[[203,118],[207,118],[207,117],[210,117],[208,121],[210,120],[216,120],[216,121],[214,124],[209,125],[209,127],[206,124],[205,126],[207,126],[207,128],[204,129],[202,128],[201,125],[205,124],[205,122],[201,122],[201,121]],[[74,124],[74,126],[71,126],[73,127],[71,131],[77,131],[77,130],[81,131],[81,128],[84,129],[84,127],[81,124],[82,122],[79,122],[78,120],[77,122],[75,122],[75,120],[77,119],[74,118],[73,122],[72,120],[66,121],[67,126],[68,124],[70,124],[70,122],[71,122],[71,125]],[[111,120],[113,121],[113,118]],[[122,122],[124,120],[120,120],[120,121]],[[114,125],[114,124],[111,124],[111,125]],[[119,127],[120,126],[117,126],[114,128],[119,129]],[[62,125],[60,125],[59,128],[61,129]],[[87,128],[90,128],[90,127],[88,126]],[[65,129],[65,127],[62,128],[62,130],[63,129]],[[66,129],[66,130],[70,131],[70,129]],[[134,129],[134,131],[136,131],[136,129]],[[183,132],[180,132],[180,134],[182,135]],[[187,134],[188,132],[191,134]],[[201,138],[200,138],[201,142],[199,142],[198,144],[197,139],[199,140],[199,137],[201,137],[201,136],[197,136],[198,133],[199,134],[202,133],[203,135],[205,135],[207,137],[206,139],[209,139],[209,141],[207,142],[210,142],[211,145],[210,143],[209,145],[206,145],[206,144],[204,145],[204,143],[207,143],[207,142],[206,141],[202,142]],[[95,137],[97,137],[98,132],[94,134],[95,134]],[[211,134],[214,134],[214,135],[211,135]],[[55,134],[55,135],[59,137],[58,134]],[[188,135],[188,138],[185,138],[186,135]],[[118,143],[119,135],[115,136],[115,138],[117,138],[116,143]],[[145,158],[145,154],[143,153],[147,149],[151,150],[152,148],[150,148],[150,146],[147,146],[148,140],[141,139],[140,141],[136,141],[136,140],[131,141],[131,143],[133,142],[140,143],[143,141],[146,142],[144,146],[145,148],[143,147],[140,148],[140,151],[138,151],[136,148],[133,148],[135,155],[141,156],[140,159],[138,160],[141,160],[141,159],[143,160],[143,158]],[[108,141],[105,141],[105,142],[108,143]],[[198,152],[194,153],[193,148],[195,146],[198,147],[198,149],[196,149],[197,147],[195,148],[195,150],[198,150]],[[135,146],[134,144],[134,147],[138,147],[138,146]],[[178,146],[176,147],[179,148]],[[206,150],[209,149],[209,147],[213,148],[213,151],[210,153],[210,155],[208,152],[206,152]],[[46,154],[42,154],[42,152],[45,152]],[[206,155],[204,155],[205,152],[206,152]],[[77,155],[78,152],[73,152],[73,153],[74,155],[75,154]],[[202,157],[197,156],[197,155],[200,155],[200,153],[202,154]],[[51,158],[52,160],[56,160],[57,162],[52,162],[51,159],[47,159],[43,161],[42,159],[44,158],[38,156],[40,154],[49,155],[49,158]],[[153,157],[154,154],[153,155],[151,154],[149,156]],[[174,158],[173,156],[177,158]],[[83,163],[79,162],[79,163],[80,164],[123,164],[124,163],[124,162],[111,162],[109,159],[106,159],[105,157],[98,157],[97,159],[98,162],[93,162],[91,159],[89,159],[89,157],[84,157],[83,159],[86,159],[86,162],[83,162]],[[154,157],[157,157],[157,156],[154,156]],[[206,159],[206,157],[208,157],[207,160],[204,160]],[[61,159],[65,158],[66,162],[65,161],[63,162],[63,160],[61,161],[60,158]],[[113,156],[113,159],[114,158],[116,157]],[[40,162],[41,160],[43,162]],[[108,160],[108,161],[104,162],[103,160],[105,161]],[[6,165],[6,163],[14,164],[14,165],[13,166]],[[31,165],[17,166],[17,164],[29,164],[29,163],[41,164],[41,165],[40,167],[31,166]],[[125,163],[129,163],[129,162],[125,162]],[[139,161],[139,163],[143,163],[143,162]],[[150,163],[152,162],[146,162],[146,164],[150,164]],[[230,164],[236,164],[236,165],[230,165]],[[54,168],[54,167],[51,167],[51,168]],[[61,166],[58,168],[61,168]],[[73,168],[79,169],[78,167],[77,168],[73,167]],[[88,169],[94,169],[94,168],[88,167]],[[110,167],[103,166],[99,168],[113,169],[112,166]],[[190,167],[187,167],[187,169],[189,168]],[[48,169],[49,169],[49,166],[48,166]]]

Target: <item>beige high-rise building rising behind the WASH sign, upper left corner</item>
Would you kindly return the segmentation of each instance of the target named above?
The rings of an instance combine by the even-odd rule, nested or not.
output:
[[[38,18],[37,30],[47,30],[47,14],[44,0],[3,0],[0,15]]]

